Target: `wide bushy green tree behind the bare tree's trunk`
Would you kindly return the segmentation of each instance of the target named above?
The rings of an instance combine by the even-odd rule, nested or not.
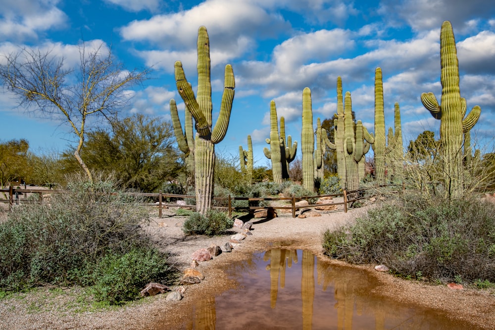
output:
[[[86,140],[81,154],[88,168],[114,173],[126,188],[155,191],[183,168],[172,124],[159,118],[136,114],[113,123],[110,133],[102,129],[87,133]]]

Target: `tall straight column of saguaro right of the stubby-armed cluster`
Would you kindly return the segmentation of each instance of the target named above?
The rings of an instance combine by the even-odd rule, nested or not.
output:
[[[382,69],[375,70],[375,177],[379,186],[385,185],[385,114],[383,105]]]

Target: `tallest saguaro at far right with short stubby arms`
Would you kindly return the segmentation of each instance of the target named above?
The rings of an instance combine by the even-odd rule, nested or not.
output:
[[[481,108],[476,105],[466,114],[466,99],[460,96],[459,63],[454,32],[449,21],[442,24],[440,32],[440,62],[442,98],[441,104],[433,93],[421,94],[423,105],[433,117],[440,119],[440,143],[444,156],[446,189],[448,196],[458,198],[463,193],[462,138],[480,118]]]

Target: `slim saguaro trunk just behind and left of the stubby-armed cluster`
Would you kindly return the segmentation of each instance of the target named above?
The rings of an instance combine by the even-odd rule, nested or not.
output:
[[[334,120],[334,136],[337,151],[337,174],[341,189],[347,187],[346,159],[344,155],[344,96],[342,94],[342,78],[337,77],[337,118]]]

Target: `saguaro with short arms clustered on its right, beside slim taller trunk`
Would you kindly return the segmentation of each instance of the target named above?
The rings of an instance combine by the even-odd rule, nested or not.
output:
[[[344,107],[344,159],[346,164],[347,190],[359,188],[359,182],[365,175],[364,155],[369,151],[370,144],[374,143],[373,137],[360,120],[357,121],[354,130],[352,118],[352,100],[350,92],[346,92]]]

